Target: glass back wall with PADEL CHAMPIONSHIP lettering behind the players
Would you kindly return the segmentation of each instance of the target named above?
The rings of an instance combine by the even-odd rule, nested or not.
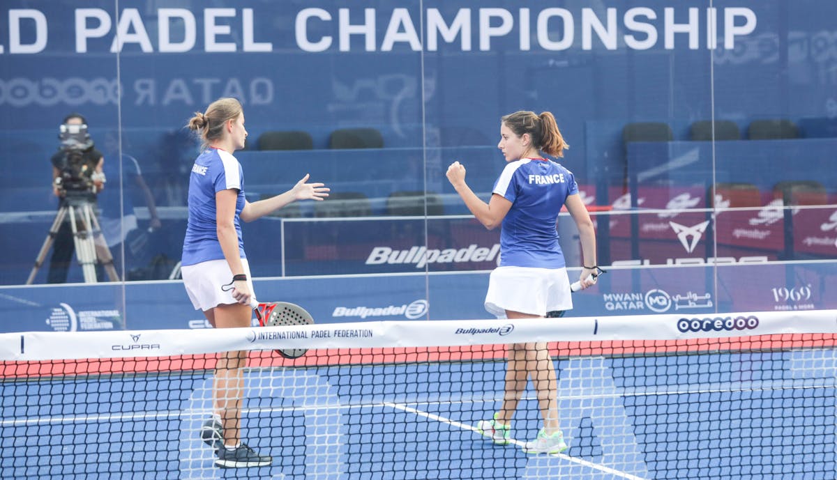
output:
[[[318,321],[488,316],[499,230],[475,222],[444,173],[460,161],[487,201],[505,165],[500,118],[516,110],[556,116],[570,145],[557,161],[578,181],[609,267],[569,314],[834,308],[833,6],[3,9],[3,331],[206,326],[178,280],[199,153],[183,127],[224,96],[244,105],[249,137],[235,156],[250,202],[306,174],[331,187],[326,202],[243,226],[259,299],[304,305]],[[52,159],[68,156],[59,125],[71,113],[104,157],[92,247],[52,227]],[[578,233],[566,214],[557,228],[574,279]],[[116,278],[100,267],[85,279],[90,253],[78,253],[100,258],[105,245]],[[56,250],[69,251],[65,277]]]

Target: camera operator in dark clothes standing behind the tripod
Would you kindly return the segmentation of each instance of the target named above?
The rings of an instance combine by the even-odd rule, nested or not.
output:
[[[53,165],[53,193],[55,197],[59,197],[59,207],[67,201],[67,197],[84,197],[85,202],[95,203],[96,195],[105,188],[105,175],[103,167],[105,165],[105,157],[101,152],[96,150],[93,146],[93,141],[86,135],[87,120],[85,117],[71,113],[64,117],[61,125],[61,146],[59,151],[52,156]],[[64,135],[66,131],[81,131],[82,137],[73,135]],[[79,158],[80,156],[80,158]],[[83,176],[82,180],[89,181],[90,186],[70,185],[67,182],[68,177],[75,183],[79,172],[69,172],[74,167],[69,163],[81,161],[81,169]],[[68,172],[70,175],[68,175]],[[53,243],[53,254],[49,259],[49,273],[47,274],[47,283],[64,283],[67,281],[67,273],[69,272],[69,265],[73,260],[75,253],[75,244],[73,238],[73,230],[70,227],[70,219],[64,217],[64,222],[61,223],[59,231],[55,234]]]

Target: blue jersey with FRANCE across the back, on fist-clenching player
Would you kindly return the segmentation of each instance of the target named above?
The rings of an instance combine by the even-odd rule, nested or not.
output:
[[[573,172],[549,160],[512,161],[493,192],[511,202],[500,232],[500,266],[566,267],[556,224],[567,197],[578,194]]]

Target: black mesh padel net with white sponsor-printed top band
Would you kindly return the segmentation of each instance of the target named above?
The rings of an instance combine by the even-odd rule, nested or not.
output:
[[[0,476],[828,478],[835,340],[835,310],[0,334]],[[508,345],[543,342],[554,454],[524,452],[544,426],[531,380],[507,439],[478,427]],[[249,352],[242,438],[270,465],[218,468],[203,442],[228,350]]]

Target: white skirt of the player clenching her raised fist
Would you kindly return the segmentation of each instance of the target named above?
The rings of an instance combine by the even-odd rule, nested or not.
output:
[[[573,309],[567,268],[495,268],[485,309],[498,319],[506,318],[506,310],[546,316],[553,310]]]

